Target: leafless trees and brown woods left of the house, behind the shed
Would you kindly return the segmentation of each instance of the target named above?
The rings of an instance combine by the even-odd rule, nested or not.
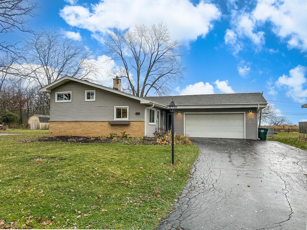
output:
[[[49,95],[38,90],[65,75],[98,79],[99,67],[87,61],[91,52],[58,30],[43,29],[26,35],[18,56],[0,57],[0,111],[8,110],[25,123],[33,113],[49,113]]]

